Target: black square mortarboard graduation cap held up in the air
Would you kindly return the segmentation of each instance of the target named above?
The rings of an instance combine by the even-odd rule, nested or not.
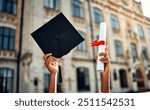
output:
[[[48,21],[31,34],[44,54],[61,58],[84,39],[62,14]]]

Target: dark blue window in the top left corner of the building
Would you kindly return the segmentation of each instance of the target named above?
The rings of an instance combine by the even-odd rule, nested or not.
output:
[[[17,0],[0,0],[0,11],[17,14]]]

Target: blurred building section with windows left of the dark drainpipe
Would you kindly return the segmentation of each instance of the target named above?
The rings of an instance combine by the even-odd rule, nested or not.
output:
[[[0,92],[17,91],[20,22],[21,1],[0,0]]]

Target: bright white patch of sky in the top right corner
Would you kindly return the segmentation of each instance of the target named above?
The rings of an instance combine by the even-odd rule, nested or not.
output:
[[[136,0],[142,2],[143,13],[150,18],[150,0]]]

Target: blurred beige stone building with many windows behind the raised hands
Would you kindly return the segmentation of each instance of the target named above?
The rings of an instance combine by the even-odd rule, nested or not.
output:
[[[98,39],[103,21],[108,24],[111,92],[150,90],[150,18],[141,1],[0,0],[0,92],[48,92],[50,73],[30,34],[60,12],[85,41],[61,60],[58,92],[100,91],[97,48],[90,43]]]

